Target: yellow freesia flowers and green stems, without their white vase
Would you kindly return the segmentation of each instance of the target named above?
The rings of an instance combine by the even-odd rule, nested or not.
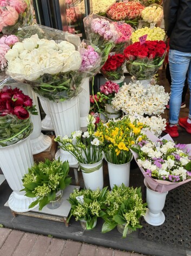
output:
[[[146,137],[141,129],[146,125],[135,120],[130,122],[128,117],[121,120],[99,123],[94,136],[101,141],[106,160],[111,164],[126,164],[132,158],[129,150]]]

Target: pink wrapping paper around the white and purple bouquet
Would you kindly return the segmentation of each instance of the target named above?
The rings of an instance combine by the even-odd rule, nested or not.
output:
[[[147,135],[147,137],[152,140],[153,142],[159,140],[159,138],[157,138],[153,133],[147,131],[145,133]],[[166,139],[166,140],[171,140],[173,141],[173,139],[170,137],[169,134],[163,136],[162,138],[160,138],[160,140],[163,140],[163,139]],[[187,148],[190,149],[190,153],[189,155],[191,155],[191,144],[187,144]],[[187,149],[186,148],[186,149]],[[137,163],[137,158],[139,158],[139,154],[137,154],[136,152],[134,151],[131,151],[134,155],[134,158],[135,158],[135,161]],[[137,165],[139,166],[142,174],[144,174],[144,169],[137,163]],[[163,192],[167,192],[167,191],[170,191],[172,189],[175,189],[177,188],[178,186],[181,186],[182,184],[185,184],[187,182],[190,182],[191,181],[191,178],[190,179],[187,179],[187,180],[184,180],[183,182],[177,182],[177,183],[173,183],[173,182],[167,182],[167,180],[158,180],[158,179],[153,179],[151,177],[148,177],[148,176],[144,176],[144,178],[146,179],[150,189],[154,190],[154,191],[157,191],[157,192],[160,192],[160,193],[163,193]]]

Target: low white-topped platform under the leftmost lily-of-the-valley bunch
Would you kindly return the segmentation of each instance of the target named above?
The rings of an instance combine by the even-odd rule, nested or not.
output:
[[[70,213],[71,205],[67,201],[67,199],[69,198],[70,193],[74,191],[74,189],[80,189],[80,186],[69,185],[63,190],[62,204],[57,209],[52,210],[45,206],[42,211],[39,211],[38,207],[36,207],[35,209],[27,211],[26,213],[18,213],[12,210],[11,213],[14,217],[16,217],[17,215],[24,215],[36,218],[43,218],[45,220],[64,222],[65,226],[68,227],[69,223],[67,223],[67,218]],[[8,201],[4,204],[4,206],[9,207]]]

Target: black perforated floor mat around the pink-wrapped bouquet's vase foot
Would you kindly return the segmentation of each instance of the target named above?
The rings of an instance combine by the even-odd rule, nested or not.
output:
[[[146,198],[146,188],[142,190]],[[185,248],[191,248],[191,182],[168,192],[161,226],[151,226],[141,218],[139,238]]]

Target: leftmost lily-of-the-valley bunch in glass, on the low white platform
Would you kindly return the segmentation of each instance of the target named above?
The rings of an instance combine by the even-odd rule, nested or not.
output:
[[[60,159],[39,162],[29,168],[22,179],[25,196],[37,199],[29,205],[34,208],[39,204],[39,210],[47,205],[49,209],[57,209],[62,204],[62,192],[71,182],[68,176],[69,164]]]

